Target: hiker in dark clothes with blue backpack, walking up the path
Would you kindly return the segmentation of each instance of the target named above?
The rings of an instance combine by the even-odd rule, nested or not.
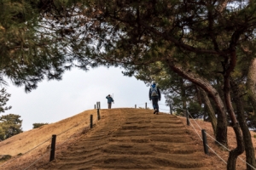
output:
[[[152,104],[154,108],[154,114],[158,115],[159,113],[158,101],[160,101],[161,99],[161,94],[155,82],[152,82],[152,85],[150,86],[150,89],[149,89],[149,100],[151,99],[152,99]]]

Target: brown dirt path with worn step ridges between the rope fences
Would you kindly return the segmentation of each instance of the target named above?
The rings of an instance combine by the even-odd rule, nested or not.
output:
[[[214,169],[176,116],[143,109],[101,115],[90,132],[39,169]]]

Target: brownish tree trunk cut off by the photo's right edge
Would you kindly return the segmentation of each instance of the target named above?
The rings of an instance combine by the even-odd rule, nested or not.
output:
[[[252,59],[247,74],[247,93],[256,112],[256,59]]]

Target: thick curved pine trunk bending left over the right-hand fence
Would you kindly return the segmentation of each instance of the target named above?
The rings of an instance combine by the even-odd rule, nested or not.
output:
[[[213,88],[212,84],[208,82],[206,79],[199,77],[197,74],[193,73],[192,71],[183,69],[181,65],[177,65],[172,60],[167,59],[166,63],[168,64],[168,66],[172,71],[176,72],[181,77],[188,79],[190,82],[193,82],[197,86],[204,89],[213,99],[213,101],[215,102],[218,108],[216,139],[220,144],[223,144],[224,146],[228,146],[226,110],[224,108],[224,103],[222,99],[218,95],[218,91],[215,88]]]

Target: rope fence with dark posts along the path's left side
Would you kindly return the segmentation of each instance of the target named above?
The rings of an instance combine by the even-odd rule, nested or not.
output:
[[[100,120],[100,112],[99,112],[99,110],[100,110],[100,109],[99,109],[99,108],[100,108],[100,102],[97,102],[96,105],[97,105],[97,121],[99,121],[99,120]],[[84,129],[90,129],[90,128],[93,127],[94,124],[93,124],[93,116],[92,116],[92,115],[90,115],[90,121],[89,121],[89,122],[90,122],[89,126],[88,126],[88,127],[84,127]],[[81,125],[82,123],[84,123],[84,121],[81,121],[81,122],[77,123],[77,124],[74,125],[73,127],[70,127],[70,128],[68,128],[67,130],[65,130],[65,131],[63,131],[63,132],[61,132],[61,133],[58,133],[58,134],[56,134],[56,135],[53,134],[51,138],[45,140],[45,141],[42,142],[41,144],[38,144],[37,146],[33,147],[31,150],[27,150],[24,154],[22,154],[22,155],[20,155],[20,156],[17,156],[17,157],[15,157],[15,158],[13,158],[13,159],[7,161],[6,163],[2,164],[0,167],[4,167],[4,166],[8,165],[10,162],[17,160],[17,159],[20,158],[21,156],[25,156],[27,153],[31,152],[32,150],[37,149],[37,148],[38,148],[39,146],[41,146],[42,144],[45,144],[45,143],[48,142],[50,139],[53,139],[53,136],[55,136],[55,137],[61,136],[61,134],[67,133],[67,131],[70,131],[70,130],[73,129],[74,127],[78,127],[78,126]],[[64,140],[61,144],[57,144],[56,147],[55,147],[55,144],[54,144],[54,147],[51,147],[51,149],[49,150],[49,152],[50,152],[50,159],[49,159],[49,161],[52,161],[53,159],[55,159],[55,149],[59,148],[62,144],[66,143],[68,140],[72,139],[71,137],[72,137],[72,136],[70,136],[69,138],[67,138],[66,140]],[[51,144],[51,145],[53,145],[53,144]],[[36,161],[33,161],[33,162],[32,162],[28,167],[26,167],[24,170],[28,169],[29,167],[32,167],[32,165],[34,165],[35,163],[37,163],[37,162],[38,162],[39,160],[41,160],[44,156],[48,155],[49,152],[45,152],[43,156],[40,156]],[[53,153],[53,156],[52,156],[52,152],[54,152],[54,153]],[[52,159],[52,157],[53,157],[53,159]]]

